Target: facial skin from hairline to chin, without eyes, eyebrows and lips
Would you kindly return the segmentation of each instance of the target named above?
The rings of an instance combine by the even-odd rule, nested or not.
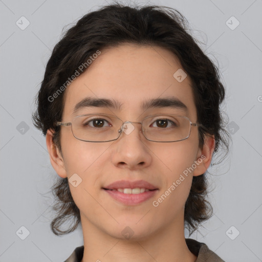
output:
[[[159,47],[122,45],[103,50],[65,91],[62,122],[94,113],[115,115],[123,122],[141,122],[147,116],[174,114],[186,116],[195,123],[197,110],[190,79],[187,76],[179,82],[173,77],[179,69],[179,60]],[[120,110],[92,106],[74,113],[75,105],[86,97],[114,99],[122,105]],[[180,100],[187,111],[182,107],[141,110],[145,100],[157,98]],[[199,148],[198,127],[191,127],[186,140],[161,143],[146,140],[140,124],[133,126],[131,133],[123,132],[117,140],[102,143],[80,141],[73,136],[70,126],[61,126],[64,171],[58,168],[56,171],[69,180],[77,174],[74,175],[78,178],[77,184],[81,179],[76,187],[71,183],[69,186],[80,210],[82,227],[93,227],[117,238],[124,238],[123,230],[127,230],[127,226],[133,231],[133,237],[140,239],[172,225],[180,225],[184,232],[184,205],[192,177],[202,174],[200,166],[203,165],[183,175],[181,183],[176,181],[203,153]],[[150,191],[151,197],[145,201],[124,204],[103,189],[120,180],[144,180],[157,189],[154,193]],[[163,194],[165,197],[158,201]]]

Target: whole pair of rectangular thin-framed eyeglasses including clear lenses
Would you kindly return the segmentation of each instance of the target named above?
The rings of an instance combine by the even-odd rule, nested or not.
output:
[[[190,136],[192,123],[189,118],[178,115],[149,116],[142,122],[123,122],[116,116],[88,114],[76,116],[71,122],[57,122],[57,126],[69,126],[76,139],[86,142],[109,142],[117,140],[122,132],[127,135],[134,130],[132,123],[141,124],[144,137],[153,142],[177,142]]]

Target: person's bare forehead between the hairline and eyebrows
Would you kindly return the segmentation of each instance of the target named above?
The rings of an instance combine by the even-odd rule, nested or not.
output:
[[[125,44],[101,50],[88,69],[65,90],[63,119],[76,116],[76,105],[86,97],[117,101],[121,112],[130,117],[145,110],[145,101],[174,98],[186,105],[189,117],[195,117],[190,79],[185,75],[183,81],[176,78],[183,74],[181,70],[179,59],[157,46]]]

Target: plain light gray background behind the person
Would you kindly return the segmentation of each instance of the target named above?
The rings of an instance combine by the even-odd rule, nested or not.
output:
[[[224,109],[233,144],[228,158],[209,169],[214,215],[191,238],[206,243],[226,261],[262,261],[262,1],[138,3],[181,11],[192,34],[205,43],[203,50],[219,63],[226,86]],[[62,237],[50,230],[53,198],[49,190],[57,174],[45,137],[33,127],[31,113],[62,28],[105,4],[0,0],[0,261],[64,261],[83,244],[81,227]],[[16,25],[21,16],[30,21],[25,30]],[[226,24],[231,16],[240,23],[234,30],[228,26],[234,27],[236,20]],[[18,234],[21,226],[29,231],[24,240]],[[22,231],[25,235],[26,230]],[[235,237],[237,231],[240,234]]]

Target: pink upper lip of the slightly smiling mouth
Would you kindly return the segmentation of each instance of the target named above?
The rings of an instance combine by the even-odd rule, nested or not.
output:
[[[150,184],[145,180],[137,180],[137,181],[119,180],[119,181],[115,181],[110,185],[103,187],[103,189],[109,189],[109,190],[113,190],[113,189],[117,190],[117,189],[125,189],[125,188],[130,188],[130,189],[144,188],[148,190],[158,189],[156,186]]]

